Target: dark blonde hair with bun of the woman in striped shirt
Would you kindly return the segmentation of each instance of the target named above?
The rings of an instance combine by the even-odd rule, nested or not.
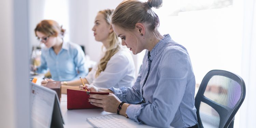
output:
[[[148,0],[148,2],[125,0],[116,7],[111,23],[126,31],[133,30],[137,23],[147,23],[149,30],[158,38],[159,18],[151,7],[158,9],[161,6],[162,0]]]

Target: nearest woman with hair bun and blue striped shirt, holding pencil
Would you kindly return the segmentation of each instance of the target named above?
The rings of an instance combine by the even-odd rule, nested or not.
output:
[[[158,31],[159,18],[152,8],[161,5],[162,0],[125,0],[116,7],[110,21],[122,45],[134,55],[144,49],[146,54],[132,88],[89,85],[86,89],[110,95],[91,94],[88,102],[139,124],[197,128],[195,75],[190,57],[184,46]]]

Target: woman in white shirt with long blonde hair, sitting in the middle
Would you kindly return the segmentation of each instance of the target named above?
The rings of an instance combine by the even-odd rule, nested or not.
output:
[[[103,43],[103,56],[95,67],[82,80],[85,84],[96,87],[119,88],[131,87],[135,80],[134,62],[129,51],[122,47],[112,25],[107,18],[114,10],[99,11],[94,22],[94,37],[96,41]],[[61,82],[61,93],[66,94],[67,89],[80,90],[80,80]],[[88,85],[87,85],[88,86]]]

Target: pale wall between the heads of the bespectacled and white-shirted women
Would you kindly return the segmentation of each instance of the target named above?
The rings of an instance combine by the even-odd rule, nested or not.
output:
[[[86,54],[97,61],[101,42],[94,39],[94,19],[100,10],[115,9],[122,0],[70,0],[70,41],[85,46]],[[100,3],[100,4],[99,4]]]

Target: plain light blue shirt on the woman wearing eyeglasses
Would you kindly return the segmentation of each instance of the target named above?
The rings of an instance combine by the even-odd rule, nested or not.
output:
[[[72,42],[63,42],[57,55],[52,47],[42,48],[41,66],[37,72],[44,73],[47,69],[55,81],[71,81],[88,74],[85,54],[81,46]]]

